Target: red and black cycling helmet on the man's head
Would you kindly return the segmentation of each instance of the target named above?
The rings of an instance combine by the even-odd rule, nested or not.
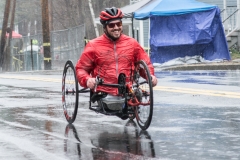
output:
[[[105,8],[104,11],[100,13],[100,22],[105,27],[110,21],[122,19],[123,13],[119,8]]]

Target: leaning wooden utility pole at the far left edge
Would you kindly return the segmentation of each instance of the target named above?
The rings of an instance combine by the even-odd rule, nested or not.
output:
[[[3,69],[3,63],[5,58],[4,48],[6,44],[6,31],[7,31],[7,25],[8,25],[9,10],[10,10],[10,0],[6,0],[4,17],[3,17],[3,25],[2,25],[1,46],[0,46],[0,72]]]

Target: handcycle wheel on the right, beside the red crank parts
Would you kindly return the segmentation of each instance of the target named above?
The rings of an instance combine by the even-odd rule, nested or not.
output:
[[[148,66],[144,61],[135,64],[134,81],[139,85],[138,100],[145,105],[135,107],[135,116],[139,127],[146,130],[152,121],[153,114],[153,88],[151,75]]]

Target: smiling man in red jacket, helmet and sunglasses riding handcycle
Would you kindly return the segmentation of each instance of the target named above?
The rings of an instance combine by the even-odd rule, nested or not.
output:
[[[115,7],[106,8],[100,13],[104,34],[88,42],[76,64],[77,79],[82,87],[93,89],[96,76],[102,78],[104,83],[117,84],[119,74],[130,75],[134,69],[134,62],[139,60],[146,62],[152,76],[152,84],[157,85],[148,55],[135,39],[122,34],[122,17],[122,11]],[[100,85],[97,87],[98,91],[118,95],[117,88]]]

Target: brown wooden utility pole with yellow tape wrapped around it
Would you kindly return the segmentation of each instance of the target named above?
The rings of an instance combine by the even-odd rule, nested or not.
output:
[[[50,30],[49,30],[48,0],[41,0],[41,4],[42,4],[44,70],[51,70],[52,69],[52,59],[51,59],[51,52],[50,52]]]

